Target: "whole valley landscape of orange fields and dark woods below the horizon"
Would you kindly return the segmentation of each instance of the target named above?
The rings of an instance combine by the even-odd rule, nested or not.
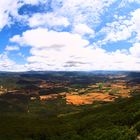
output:
[[[0,139],[135,140],[139,100],[139,72],[5,72]]]

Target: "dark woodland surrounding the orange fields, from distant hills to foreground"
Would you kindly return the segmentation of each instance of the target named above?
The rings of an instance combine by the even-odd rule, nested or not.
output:
[[[111,75],[116,73],[111,73]],[[95,102],[75,106],[64,98],[48,101],[30,100],[32,88],[38,90],[41,80],[67,83],[72,88],[86,87],[108,80],[108,74],[98,73],[4,73],[0,85],[16,93],[0,95],[1,140],[135,140],[140,134],[140,93],[114,102]],[[127,73],[128,85],[140,83],[140,73]],[[51,88],[56,93],[69,89]],[[20,93],[21,91],[21,93]],[[34,91],[34,90],[33,90]],[[39,89],[40,91],[40,89]],[[46,93],[51,92],[46,89]],[[39,94],[43,94],[40,91]]]

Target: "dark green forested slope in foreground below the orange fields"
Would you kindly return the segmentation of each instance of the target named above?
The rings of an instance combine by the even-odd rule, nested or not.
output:
[[[0,139],[135,140],[140,133],[139,100],[140,96],[135,96],[106,105],[78,107],[66,105],[61,98],[37,100],[30,102],[29,113],[26,102],[1,101],[5,110],[0,109]],[[14,106],[10,107],[12,103]]]

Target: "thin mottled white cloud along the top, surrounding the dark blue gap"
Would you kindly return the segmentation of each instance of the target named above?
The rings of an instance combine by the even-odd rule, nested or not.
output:
[[[30,27],[38,26],[64,26],[73,24],[95,25],[100,21],[100,14],[110,6],[114,0],[52,0],[53,12],[38,13],[32,17],[19,15],[18,10],[25,4],[47,6],[48,0],[1,0],[0,1],[0,30],[6,25],[11,25],[14,20],[28,23]],[[61,6],[60,6],[61,5]],[[94,14],[92,14],[94,13]],[[12,18],[11,18],[12,17]]]

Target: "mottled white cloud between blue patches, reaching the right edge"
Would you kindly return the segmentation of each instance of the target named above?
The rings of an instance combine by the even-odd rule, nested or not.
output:
[[[117,42],[120,40],[128,40],[132,33],[136,33],[133,40],[135,43],[140,40],[140,8],[129,13],[129,17],[115,16],[116,21],[108,23],[98,34],[105,33],[103,40],[99,41],[98,45],[107,44],[108,42]]]

